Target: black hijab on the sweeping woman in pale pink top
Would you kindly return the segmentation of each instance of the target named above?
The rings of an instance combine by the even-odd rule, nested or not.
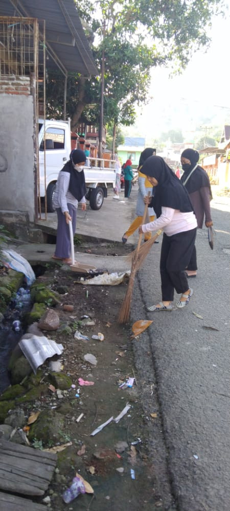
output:
[[[151,206],[157,218],[162,214],[162,206],[171,207],[181,213],[193,211],[193,206],[185,187],[160,156],[150,156],[142,167],[142,173],[154,177],[158,184],[154,187]]]

